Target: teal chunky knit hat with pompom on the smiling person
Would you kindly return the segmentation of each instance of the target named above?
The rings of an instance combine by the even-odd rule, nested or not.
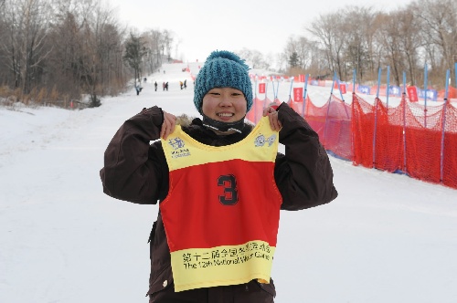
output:
[[[250,84],[250,68],[244,60],[227,50],[213,51],[198,72],[194,85],[194,104],[199,113],[203,97],[210,89],[233,88],[243,92],[248,102],[248,111],[252,106],[252,85]]]

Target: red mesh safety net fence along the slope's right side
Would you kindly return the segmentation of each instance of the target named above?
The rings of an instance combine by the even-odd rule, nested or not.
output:
[[[257,122],[262,110],[279,99],[254,99],[247,115]],[[309,96],[289,100],[319,135],[325,150],[355,165],[442,183],[457,189],[457,109],[451,102],[425,107],[406,95],[396,107],[380,99],[375,104],[353,94],[351,104],[331,94],[322,107]]]

